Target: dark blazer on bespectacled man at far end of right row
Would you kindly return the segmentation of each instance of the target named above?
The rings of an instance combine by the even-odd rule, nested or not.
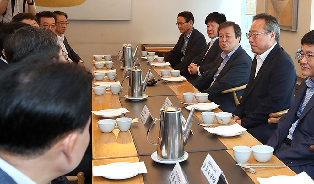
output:
[[[166,55],[165,62],[170,62],[171,67],[175,70],[180,70],[181,75],[189,77],[187,67],[191,64],[192,60],[200,54],[206,47],[206,40],[204,35],[197,29],[193,29],[189,42],[187,43],[187,49],[185,50],[184,59],[183,53],[181,53],[182,45],[184,42],[183,33],[180,35],[175,47]]]

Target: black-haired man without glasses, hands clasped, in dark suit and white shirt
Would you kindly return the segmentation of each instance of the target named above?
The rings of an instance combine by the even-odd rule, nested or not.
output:
[[[214,62],[216,57],[220,57],[222,50],[219,46],[217,30],[219,25],[226,21],[226,16],[222,13],[213,12],[207,15],[205,19],[206,31],[211,41],[203,52],[197,55],[188,66],[187,70],[192,75],[188,78],[189,82],[193,83],[203,72],[208,71],[208,65]]]

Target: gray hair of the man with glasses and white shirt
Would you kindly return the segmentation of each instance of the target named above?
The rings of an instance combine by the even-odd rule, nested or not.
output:
[[[280,26],[279,26],[279,21],[276,17],[273,15],[269,15],[267,13],[260,13],[254,16],[253,21],[258,20],[258,19],[263,19],[265,20],[265,25],[264,29],[266,31],[266,36],[274,31],[276,33],[275,35],[275,40],[279,42],[280,39]]]

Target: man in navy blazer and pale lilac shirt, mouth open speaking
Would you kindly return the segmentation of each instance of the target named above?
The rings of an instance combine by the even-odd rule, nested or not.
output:
[[[199,91],[208,93],[208,99],[220,105],[222,111],[236,109],[233,94],[221,91],[238,87],[249,81],[252,59],[239,45],[241,29],[234,22],[224,22],[218,28],[219,45],[224,51],[205,72],[193,83]],[[238,91],[241,96],[243,91]]]

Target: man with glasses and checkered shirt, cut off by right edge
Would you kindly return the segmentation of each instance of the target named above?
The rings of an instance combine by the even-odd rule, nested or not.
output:
[[[300,65],[305,78],[287,114],[281,116],[278,128],[268,140],[282,162],[297,174],[306,171],[314,179],[314,31],[301,40]]]

